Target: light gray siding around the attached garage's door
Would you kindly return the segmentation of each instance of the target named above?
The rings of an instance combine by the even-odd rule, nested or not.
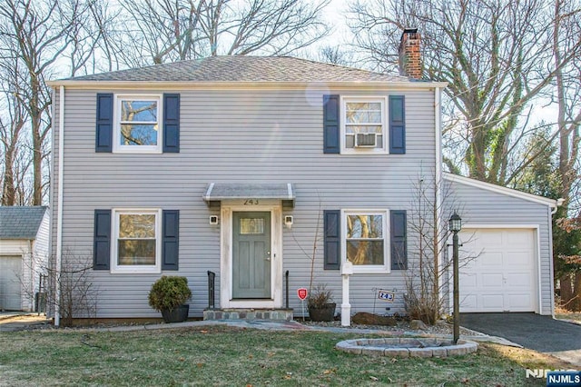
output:
[[[454,209],[458,209],[458,214],[462,217],[462,224],[495,225],[499,229],[511,225],[538,226],[541,294],[540,311],[538,312],[540,314],[553,313],[551,303],[553,297],[551,262],[553,258],[550,242],[551,209],[549,206],[449,180],[445,180],[446,189],[449,192],[448,203]],[[537,265],[537,260],[535,264]],[[537,272],[536,267],[535,273]],[[538,273],[535,281],[538,282]],[[535,297],[538,298],[537,294]]]

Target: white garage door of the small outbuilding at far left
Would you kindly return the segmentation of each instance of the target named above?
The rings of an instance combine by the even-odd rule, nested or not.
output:
[[[22,257],[0,256],[0,311],[20,311]]]

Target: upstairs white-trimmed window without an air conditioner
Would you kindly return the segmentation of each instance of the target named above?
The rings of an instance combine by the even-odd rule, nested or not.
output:
[[[115,95],[113,152],[162,153],[161,95]]]

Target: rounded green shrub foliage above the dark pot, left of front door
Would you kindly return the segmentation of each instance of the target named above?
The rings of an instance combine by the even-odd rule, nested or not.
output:
[[[188,279],[180,276],[166,276],[157,280],[152,285],[149,293],[149,304],[156,311],[172,310],[192,297],[192,291],[188,287]]]

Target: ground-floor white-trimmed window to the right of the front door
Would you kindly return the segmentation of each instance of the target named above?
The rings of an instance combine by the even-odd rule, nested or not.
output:
[[[342,261],[354,273],[389,273],[388,210],[343,210]]]

